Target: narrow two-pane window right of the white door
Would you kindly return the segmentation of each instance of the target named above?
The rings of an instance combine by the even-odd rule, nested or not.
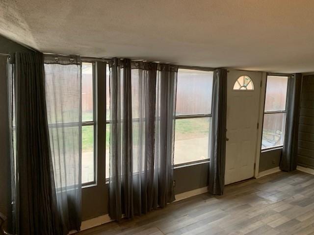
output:
[[[288,76],[267,76],[262,149],[284,144],[287,86]]]

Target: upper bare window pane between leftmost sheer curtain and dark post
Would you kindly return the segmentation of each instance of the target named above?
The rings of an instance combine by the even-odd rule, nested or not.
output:
[[[82,121],[93,118],[93,63],[82,63]]]

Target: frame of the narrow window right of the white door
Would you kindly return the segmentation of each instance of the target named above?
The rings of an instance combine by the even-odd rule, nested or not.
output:
[[[285,109],[284,110],[275,110],[275,111],[265,111],[265,101],[266,101],[266,91],[267,91],[267,81],[268,81],[268,76],[278,76],[278,77],[288,77],[288,81],[287,81],[287,91],[286,91],[286,104],[285,104]],[[264,119],[265,119],[265,115],[269,115],[269,114],[286,114],[285,115],[285,133],[286,133],[286,129],[287,129],[287,105],[288,105],[288,83],[289,83],[289,78],[293,76],[292,74],[287,74],[287,73],[272,73],[272,72],[268,72],[266,73],[266,84],[265,84],[265,95],[264,95],[264,113],[263,113],[263,125],[262,125],[262,136],[263,136],[263,127],[264,127]],[[276,150],[276,149],[282,149],[284,147],[285,144],[285,137],[284,137],[284,141],[282,145],[278,145],[278,146],[273,146],[273,147],[268,147],[268,148],[263,148],[262,147],[262,141],[261,141],[261,152],[267,152],[267,151],[271,151],[271,150]]]

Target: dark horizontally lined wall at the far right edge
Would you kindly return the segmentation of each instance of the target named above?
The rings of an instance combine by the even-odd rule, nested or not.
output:
[[[314,169],[314,75],[303,76],[297,156],[298,165]]]

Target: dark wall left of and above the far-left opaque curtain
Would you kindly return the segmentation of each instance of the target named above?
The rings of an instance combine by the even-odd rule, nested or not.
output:
[[[0,53],[8,54],[15,51],[29,51],[29,49],[0,36]],[[0,55],[0,212],[10,219],[11,182],[6,60],[7,56]]]

